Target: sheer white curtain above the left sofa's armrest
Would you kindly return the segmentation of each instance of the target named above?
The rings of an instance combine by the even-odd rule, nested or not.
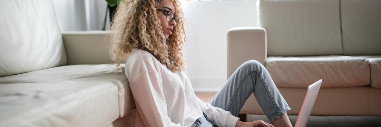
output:
[[[101,30],[106,14],[105,0],[53,0],[61,31]],[[106,29],[109,29],[107,17]]]

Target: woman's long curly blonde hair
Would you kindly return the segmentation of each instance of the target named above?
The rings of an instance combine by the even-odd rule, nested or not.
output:
[[[133,48],[149,52],[161,64],[178,72],[184,69],[181,53],[186,41],[185,18],[180,2],[171,0],[177,25],[172,35],[165,39],[157,17],[157,6],[161,0],[123,0],[111,22],[111,33],[106,36],[110,57],[117,66],[125,62]]]

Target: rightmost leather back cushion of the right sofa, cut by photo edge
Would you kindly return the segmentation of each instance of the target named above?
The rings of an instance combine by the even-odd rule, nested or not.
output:
[[[344,55],[381,55],[381,0],[341,0]]]

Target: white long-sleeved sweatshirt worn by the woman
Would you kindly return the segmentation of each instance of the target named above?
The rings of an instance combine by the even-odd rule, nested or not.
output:
[[[202,112],[219,127],[235,127],[239,119],[202,102],[184,71],[173,73],[147,51],[133,49],[125,73],[136,103],[135,127],[189,127]]]

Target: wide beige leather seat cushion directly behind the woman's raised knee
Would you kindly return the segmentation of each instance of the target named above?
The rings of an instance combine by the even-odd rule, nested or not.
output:
[[[321,87],[370,84],[369,61],[361,57],[268,57],[266,68],[280,87],[307,87],[319,79],[323,79]]]

